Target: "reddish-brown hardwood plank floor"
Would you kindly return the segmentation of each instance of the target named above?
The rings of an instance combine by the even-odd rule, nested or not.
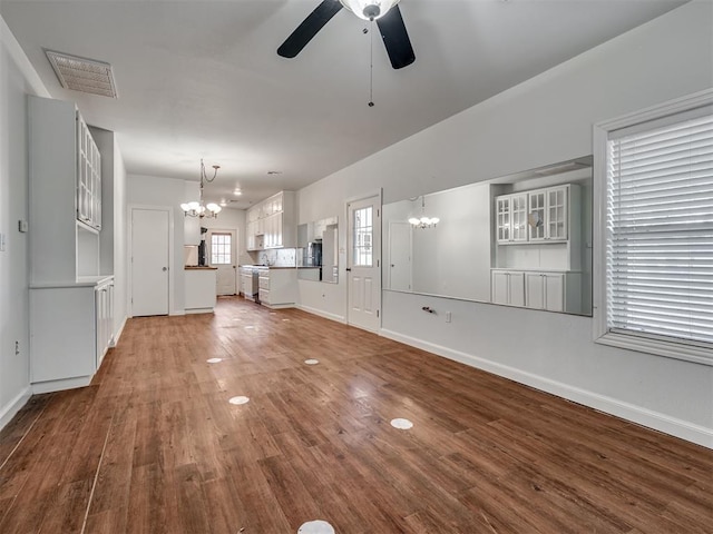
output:
[[[90,386],[32,397],[0,433],[3,534],[313,520],[339,534],[712,533],[713,451],[241,298],[130,319]]]

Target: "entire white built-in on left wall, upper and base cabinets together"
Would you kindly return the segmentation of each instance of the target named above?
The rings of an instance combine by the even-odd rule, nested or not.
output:
[[[28,97],[28,115],[30,367],[39,393],[87,385],[113,343],[113,246],[109,236],[101,247],[101,156],[75,103]]]

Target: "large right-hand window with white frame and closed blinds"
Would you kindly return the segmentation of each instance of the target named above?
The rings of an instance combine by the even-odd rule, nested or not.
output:
[[[599,343],[713,365],[712,92],[595,128]]]

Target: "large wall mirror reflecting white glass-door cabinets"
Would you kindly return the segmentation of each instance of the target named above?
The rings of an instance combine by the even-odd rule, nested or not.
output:
[[[416,226],[409,219],[438,218]],[[592,315],[592,157],[383,206],[385,290]]]

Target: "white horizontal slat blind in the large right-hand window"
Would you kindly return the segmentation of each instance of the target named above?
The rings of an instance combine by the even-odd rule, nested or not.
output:
[[[607,148],[608,330],[713,344],[713,116]]]

